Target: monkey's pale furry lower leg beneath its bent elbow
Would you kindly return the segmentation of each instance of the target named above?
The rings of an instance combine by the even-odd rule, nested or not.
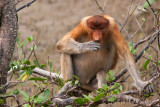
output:
[[[73,79],[74,72],[73,72],[71,55],[62,53],[60,62],[61,62],[61,73],[63,76],[63,80],[67,81]]]

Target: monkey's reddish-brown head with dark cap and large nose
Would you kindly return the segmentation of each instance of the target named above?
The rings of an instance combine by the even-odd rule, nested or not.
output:
[[[92,40],[101,41],[105,32],[107,32],[109,20],[103,16],[93,16],[86,21],[90,30]]]

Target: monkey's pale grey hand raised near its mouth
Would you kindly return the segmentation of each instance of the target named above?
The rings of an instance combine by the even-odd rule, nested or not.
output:
[[[100,43],[94,41],[84,42],[81,45],[84,52],[97,51],[100,48]]]

